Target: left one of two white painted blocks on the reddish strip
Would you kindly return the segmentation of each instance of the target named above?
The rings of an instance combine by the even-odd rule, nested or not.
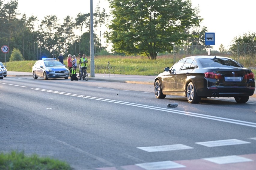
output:
[[[162,161],[162,162],[150,162],[150,163],[138,163],[135,164],[146,170],[158,170],[158,169],[173,169],[173,168],[184,168],[186,166],[178,164],[172,161]]]

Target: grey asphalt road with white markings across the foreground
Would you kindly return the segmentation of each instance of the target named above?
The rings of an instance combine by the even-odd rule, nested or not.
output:
[[[0,151],[49,156],[77,170],[255,169],[254,98],[189,104],[156,99],[153,87],[4,78]]]

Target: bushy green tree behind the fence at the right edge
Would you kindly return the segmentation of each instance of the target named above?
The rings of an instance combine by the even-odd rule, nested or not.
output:
[[[254,43],[254,44],[252,44]],[[232,53],[255,54],[256,53],[256,33],[245,33],[242,36],[235,37],[229,50]]]

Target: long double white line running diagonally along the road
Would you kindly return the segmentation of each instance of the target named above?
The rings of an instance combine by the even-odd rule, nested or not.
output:
[[[47,90],[47,89],[39,89],[39,88],[36,88],[36,89],[32,88],[32,89],[40,90],[40,91],[44,91],[44,92],[57,93],[57,94],[62,94],[62,95],[71,95],[71,96],[75,96],[75,97],[88,98],[88,99],[93,99],[93,100],[107,101],[107,102],[112,102],[112,103],[148,108],[148,109],[153,109],[153,110],[158,110],[158,111],[176,113],[176,114],[181,114],[181,115],[186,115],[186,116],[199,117],[199,118],[204,118],[204,119],[216,120],[216,121],[220,121],[220,122],[227,122],[227,123],[233,123],[233,124],[237,124],[237,125],[244,125],[244,126],[250,126],[250,127],[256,128],[256,123],[254,123],[254,122],[246,122],[246,121],[241,121],[241,120],[222,118],[222,117],[218,117],[218,116],[203,115],[200,113],[186,112],[186,111],[181,111],[181,110],[155,107],[155,106],[149,106],[149,105],[145,105],[145,104],[136,104],[136,103],[130,103],[130,102],[125,102],[125,101],[111,100],[111,99],[106,99],[106,98],[77,95],[77,94],[58,92],[58,91]]]

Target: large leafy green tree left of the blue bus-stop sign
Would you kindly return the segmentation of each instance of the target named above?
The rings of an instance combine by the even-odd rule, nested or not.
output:
[[[199,24],[190,0],[108,0],[113,20],[105,34],[112,51],[146,54],[171,52],[173,43],[186,40],[185,29]]]

